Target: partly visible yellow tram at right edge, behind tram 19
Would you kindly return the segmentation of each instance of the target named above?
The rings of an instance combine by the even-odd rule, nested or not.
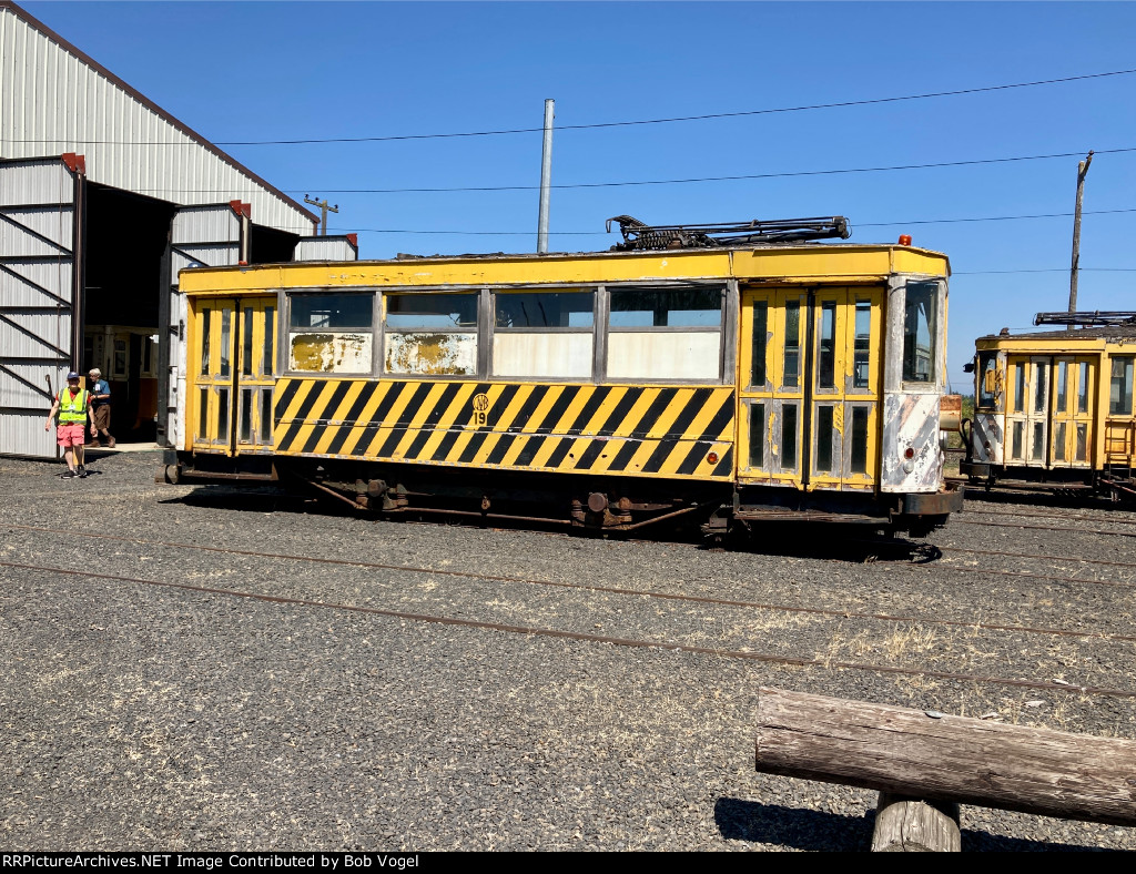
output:
[[[1068,318],[1077,322],[1076,313]],[[987,487],[1014,481],[1136,496],[1136,320],[1003,331],[975,345],[975,418],[963,474]]]

